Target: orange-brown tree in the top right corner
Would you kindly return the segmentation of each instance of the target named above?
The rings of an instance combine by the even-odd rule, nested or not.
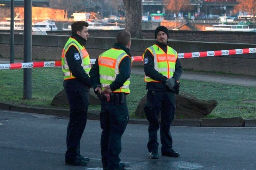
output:
[[[234,11],[250,12],[253,15],[253,22],[255,22],[256,1],[255,0],[236,0],[239,4],[235,6]]]

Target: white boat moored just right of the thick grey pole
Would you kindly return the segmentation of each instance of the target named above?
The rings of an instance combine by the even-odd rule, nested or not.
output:
[[[32,25],[33,32],[46,32],[46,31],[57,31],[58,28],[55,22],[52,20],[44,20],[42,22],[35,23]]]

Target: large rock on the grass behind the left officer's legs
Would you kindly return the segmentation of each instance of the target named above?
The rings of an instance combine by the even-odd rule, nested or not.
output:
[[[52,105],[54,106],[61,106],[69,104],[68,103],[68,96],[65,90],[60,91],[56,96],[54,96],[52,100]],[[95,95],[93,89],[90,89],[89,94],[89,104],[90,105],[100,105],[100,100],[98,99],[97,95]]]

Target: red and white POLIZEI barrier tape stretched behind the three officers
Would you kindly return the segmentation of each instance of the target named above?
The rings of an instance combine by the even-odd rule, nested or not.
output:
[[[235,54],[248,54],[256,53],[256,48],[243,48],[234,50],[219,50],[219,51],[203,51],[195,53],[178,53],[178,58],[195,58],[195,57],[210,57],[221,55],[235,55]],[[91,59],[91,64],[94,64],[96,59]],[[132,61],[142,61],[142,56],[133,56]],[[3,69],[16,69],[16,68],[35,68],[35,67],[57,67],[61,66],[61,61],[42,61],[42,62],[29,62],[29,63],[11,63],[0,64],[0,70]]]

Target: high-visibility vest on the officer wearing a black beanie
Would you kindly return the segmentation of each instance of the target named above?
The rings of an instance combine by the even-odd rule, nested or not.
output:
[[[158,50],[159,49],[159,50]],[[178,58],[178,53],[171,47],[167,46],[167,52],[165,53],[162,48],[154,44],[153,46],[148,47],[146,50],[148,50],[152,55],[154,56],[154,68],[159,73],[163,74],[165,77],[172,78],[173,73],[175,71],[175,63]],[[145,50],[145,51],[146,51]],[[142,58],[144,60],[143,53]],[[150,77],[145,75],[144,80],[146,82],[160,82],[151,79]]]

